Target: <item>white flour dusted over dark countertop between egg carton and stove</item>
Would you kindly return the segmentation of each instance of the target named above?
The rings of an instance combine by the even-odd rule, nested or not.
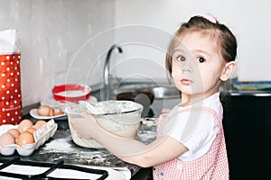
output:
[[[50,162],[64,160],[65,163],[79,165],[126,166],[123,161],[113,156],[105,148],[77,146],[70,136],[70,131],[57,131],[54,138],[40,148],[37,158]]]

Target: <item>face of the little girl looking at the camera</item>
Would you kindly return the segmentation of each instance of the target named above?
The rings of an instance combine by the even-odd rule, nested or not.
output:
[[[217,40],[192,32],[181,37],[173,50],[173,81],[183,95],[202,98],[219,92],[220,77],[226,66]],[[222,79],[224,80],[224,79]]]

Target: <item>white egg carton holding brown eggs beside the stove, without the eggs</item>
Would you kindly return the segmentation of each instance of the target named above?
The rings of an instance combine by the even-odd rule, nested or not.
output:
[[[0,135],[5,133],[7,130],[18,129],[18,126],[19,125],[10,124],[1,125]],[[5,147],[0,147],[0,152],[4,156],[11,156],[16,150],[20,156],[29,156],[33,153],[35,149],[42,146],[42,144],[44,144],[46,140],[50,139],[56,132],[57,128],[58,124],[53,119],[51,119],[50,121],[47,121],[45,124],[43,124],[41,128],[34,131],[33,136],[35,143],[26,144],[22,147],[17,144],[10,144]]]

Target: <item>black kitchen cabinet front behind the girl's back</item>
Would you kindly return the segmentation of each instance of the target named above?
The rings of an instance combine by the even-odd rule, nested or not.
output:
[[[271,92],[238,92],[224,105],[229,179],[269,177],[271,169]]]

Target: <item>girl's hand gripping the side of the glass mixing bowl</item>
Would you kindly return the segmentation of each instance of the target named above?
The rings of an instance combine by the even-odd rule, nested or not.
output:
[[[81,118],[70,118],[72,127],[77,131],[79,138],[92,139],[98,131],[97,120],[87,112],[79,112]]]

